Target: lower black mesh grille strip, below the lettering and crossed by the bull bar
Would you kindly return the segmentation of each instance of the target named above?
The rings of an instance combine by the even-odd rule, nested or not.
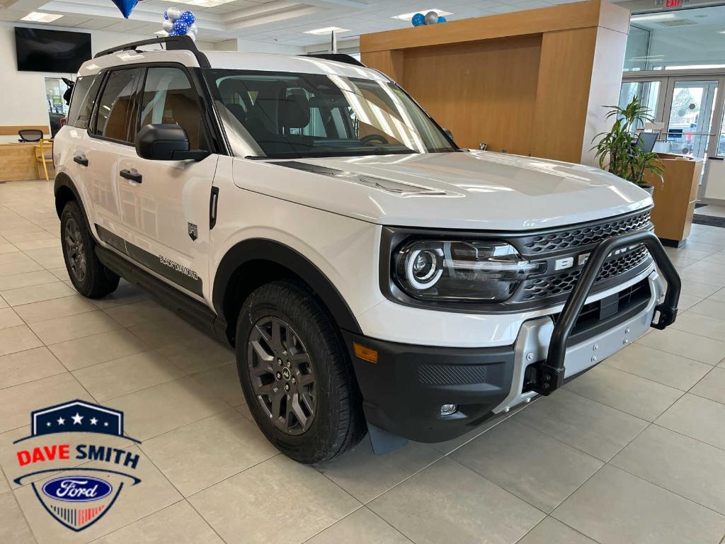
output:
[[[647,251],[646,247],[639,246],[637,249],[632,250],[625,255],[608,260],[602,266],[602,269],[597,275],[595,286],[602,281],[606,281],[614,276],[618,276],[637,268],[637,266],[644,263],[645,260],[648,260],[649,255],[650,252]],[[570,292],[576,285],[576,282],[579,281],[579,276],[581,275],[582,270],[583,268],[525,281],[520,300],[537,300],[553,297],[558,294],[566,294]]]

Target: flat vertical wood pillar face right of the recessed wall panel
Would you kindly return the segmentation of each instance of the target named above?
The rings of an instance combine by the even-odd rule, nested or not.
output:
[[[596,43],[596,27],[544,34],[531,145],[534,156],[581,160]]]

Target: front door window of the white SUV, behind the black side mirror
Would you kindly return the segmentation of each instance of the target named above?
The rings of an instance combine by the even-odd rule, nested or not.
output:
[[[141,105],[141,126],[181,125],[191,149],[206,149],[196,90],[178,68],[149,68]]]

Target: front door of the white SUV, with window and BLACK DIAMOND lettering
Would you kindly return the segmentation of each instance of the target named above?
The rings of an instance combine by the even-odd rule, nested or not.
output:
[[[191,149],[210,149],[199,91],[181,65],[149,65],[138,93],[138,126],[178,124]],[[210,286],[210,197],[218,155],[202,161],[146,160],[129,147],[117,164],[121,224],[128,255],[167,283],[202,299]]]

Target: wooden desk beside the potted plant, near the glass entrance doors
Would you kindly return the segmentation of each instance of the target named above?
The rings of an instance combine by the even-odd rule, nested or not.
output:
[[[665,169],[664,183],[651,173],[645,175],[645,181],[655,187],[652,222],[663,244],[680,247],[692,227],[703,160],[668,153],[658,155]]]

